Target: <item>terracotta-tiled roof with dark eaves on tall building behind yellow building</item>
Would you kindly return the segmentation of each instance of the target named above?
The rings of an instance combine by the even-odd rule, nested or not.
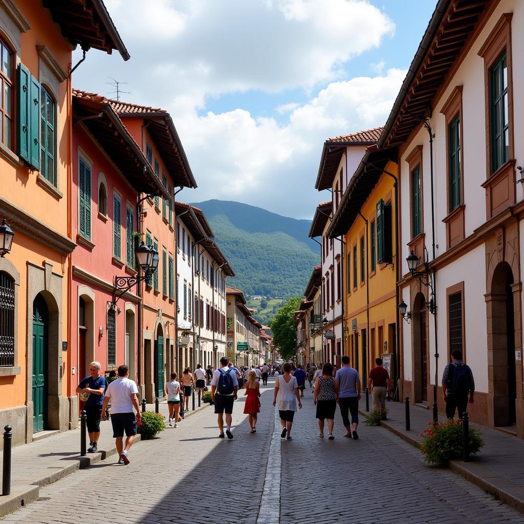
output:
[[[319,172],[316,175],[315,189],[322,191],[331,188],[340,161],[346,147],[358,146],[365,147],[377,143],[384,127],[374,127],[366,131],[359,131],[350,135],[341,135],[328,138],[324,142],[322,155],[320,157]]]

